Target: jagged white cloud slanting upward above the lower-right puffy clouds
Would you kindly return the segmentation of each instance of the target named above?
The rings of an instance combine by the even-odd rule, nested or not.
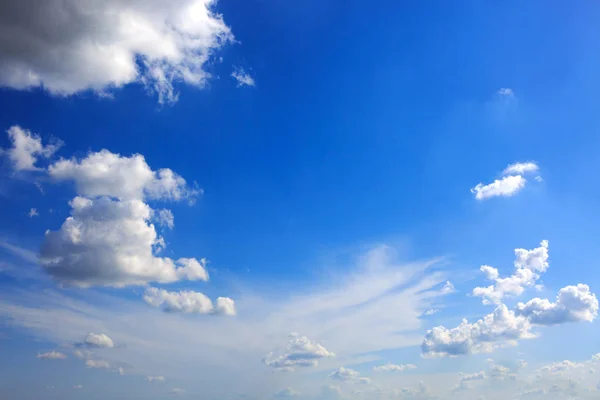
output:
[[[480,270],[486,279],[494,284],[487,287],[476,287],[473,296],[483,298],[484,304],[500,304],[502,299],[509,296],[519,296],[525,288],[535,286],[541,273],[548,269],[548,241],[543,240],[540,246],[532,249],[515,249],[515,272],[506,278],[500,278],[498,270],[489,265],[481,266]]]

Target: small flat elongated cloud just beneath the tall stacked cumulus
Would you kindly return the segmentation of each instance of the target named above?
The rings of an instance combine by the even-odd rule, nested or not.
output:
[[[217,298],[216,307],[202,293],[183,290],[169,292],[164,289],[148,288],[144,293],[144,301],[153,307],[162,307],[167,312],[183,312],[194,314],[235,315],[235,303],[226,297]]]

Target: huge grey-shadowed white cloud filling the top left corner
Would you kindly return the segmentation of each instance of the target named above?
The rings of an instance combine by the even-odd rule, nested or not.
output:
[[[215,0],[7,0],[0,6],[0,85],[105,93],[140,82],[160,102],[176,81],[203,87],[233,40]]]

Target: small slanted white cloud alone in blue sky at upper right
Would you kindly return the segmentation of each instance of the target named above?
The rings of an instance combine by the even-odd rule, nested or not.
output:
[[[536,172],[539,167],[534,162],[515,163],[507,166],[502,172],[503,177],[492,183],[478,183],[471,189],[477,200],[485,200],[492,197],[514,196],[523,189],[527,180],[525,173]]]

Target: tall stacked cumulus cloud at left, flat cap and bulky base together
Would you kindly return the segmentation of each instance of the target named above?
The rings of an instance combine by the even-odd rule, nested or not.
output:
[[[153,171],[141,155],[107,150],[57,161],[48,173],[73,181],[78,193],[69,203],[71,216],[46,233],[41,247],[41,264],[55,279],[79,287],[208,280],[204,260],[158,256],[165,242],[145,201],[193,198],[198,192],[182,177],[170,169]]]

